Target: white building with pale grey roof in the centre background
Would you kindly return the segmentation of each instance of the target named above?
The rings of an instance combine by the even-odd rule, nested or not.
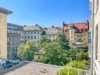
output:
[[[48,39],[50,39],[51,41],[54,41],[57,38],[58,34],[62,32],[62,30],[63,28],[60,26],[59,27],[54,27],[54,26],[47,27],[44,29],[44,32],[45,32],[44,35],[46,35]]]

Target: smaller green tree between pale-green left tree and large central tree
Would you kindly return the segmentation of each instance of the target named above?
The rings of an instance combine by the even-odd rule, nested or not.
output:
[[[47,38],[47,36],[42,36],[40,39],[40,44],[37,45],[37,50],[40,50],[41,48],[44,48],[47,43],[50,43],[51,40]]]

